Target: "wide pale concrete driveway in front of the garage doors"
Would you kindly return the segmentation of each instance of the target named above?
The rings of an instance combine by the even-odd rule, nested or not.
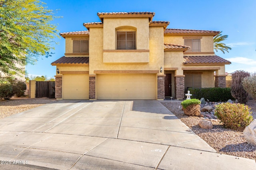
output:
[[[256,169],[216,153],[156,100],[61,100],[0,119],[0,160],[0,169]]]

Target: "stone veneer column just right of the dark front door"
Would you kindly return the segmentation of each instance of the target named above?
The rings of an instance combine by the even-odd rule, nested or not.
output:
[[[185,76],[174,76],[175,98],[183,99],[185,91]]]

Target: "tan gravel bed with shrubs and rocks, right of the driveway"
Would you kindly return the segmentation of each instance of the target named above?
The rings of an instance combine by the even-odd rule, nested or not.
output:
[[[220,121],[212,121],[213,129],[202,129],[198,125],[200,118],[185,115],[181,110],[180,102],[163,102],[162,104],[218,153],[256,160],[256,147],[246,143],[242,132],[226,129]],[[247,105],[251,108],[252,115],[256,119],[256,101],[250,100]]]

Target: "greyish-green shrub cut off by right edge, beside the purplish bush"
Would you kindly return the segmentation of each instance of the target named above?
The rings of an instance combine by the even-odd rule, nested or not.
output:
[[[244,78],[244,80],[242,80],[242,84],[244,90],[251,94],[254,99],[256,99],[256,72],[251,74],[250,77]]]

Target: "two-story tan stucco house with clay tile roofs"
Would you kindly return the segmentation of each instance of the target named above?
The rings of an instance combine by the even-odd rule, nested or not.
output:
[[[88,31],[60,33],[65,56],[54,61],[57,99],[184,98],[188,87],[226,87],[214,54],[219,31],[168,29],[154,12],[100,12]],[[215,72],[215,75],[214,75]]]

